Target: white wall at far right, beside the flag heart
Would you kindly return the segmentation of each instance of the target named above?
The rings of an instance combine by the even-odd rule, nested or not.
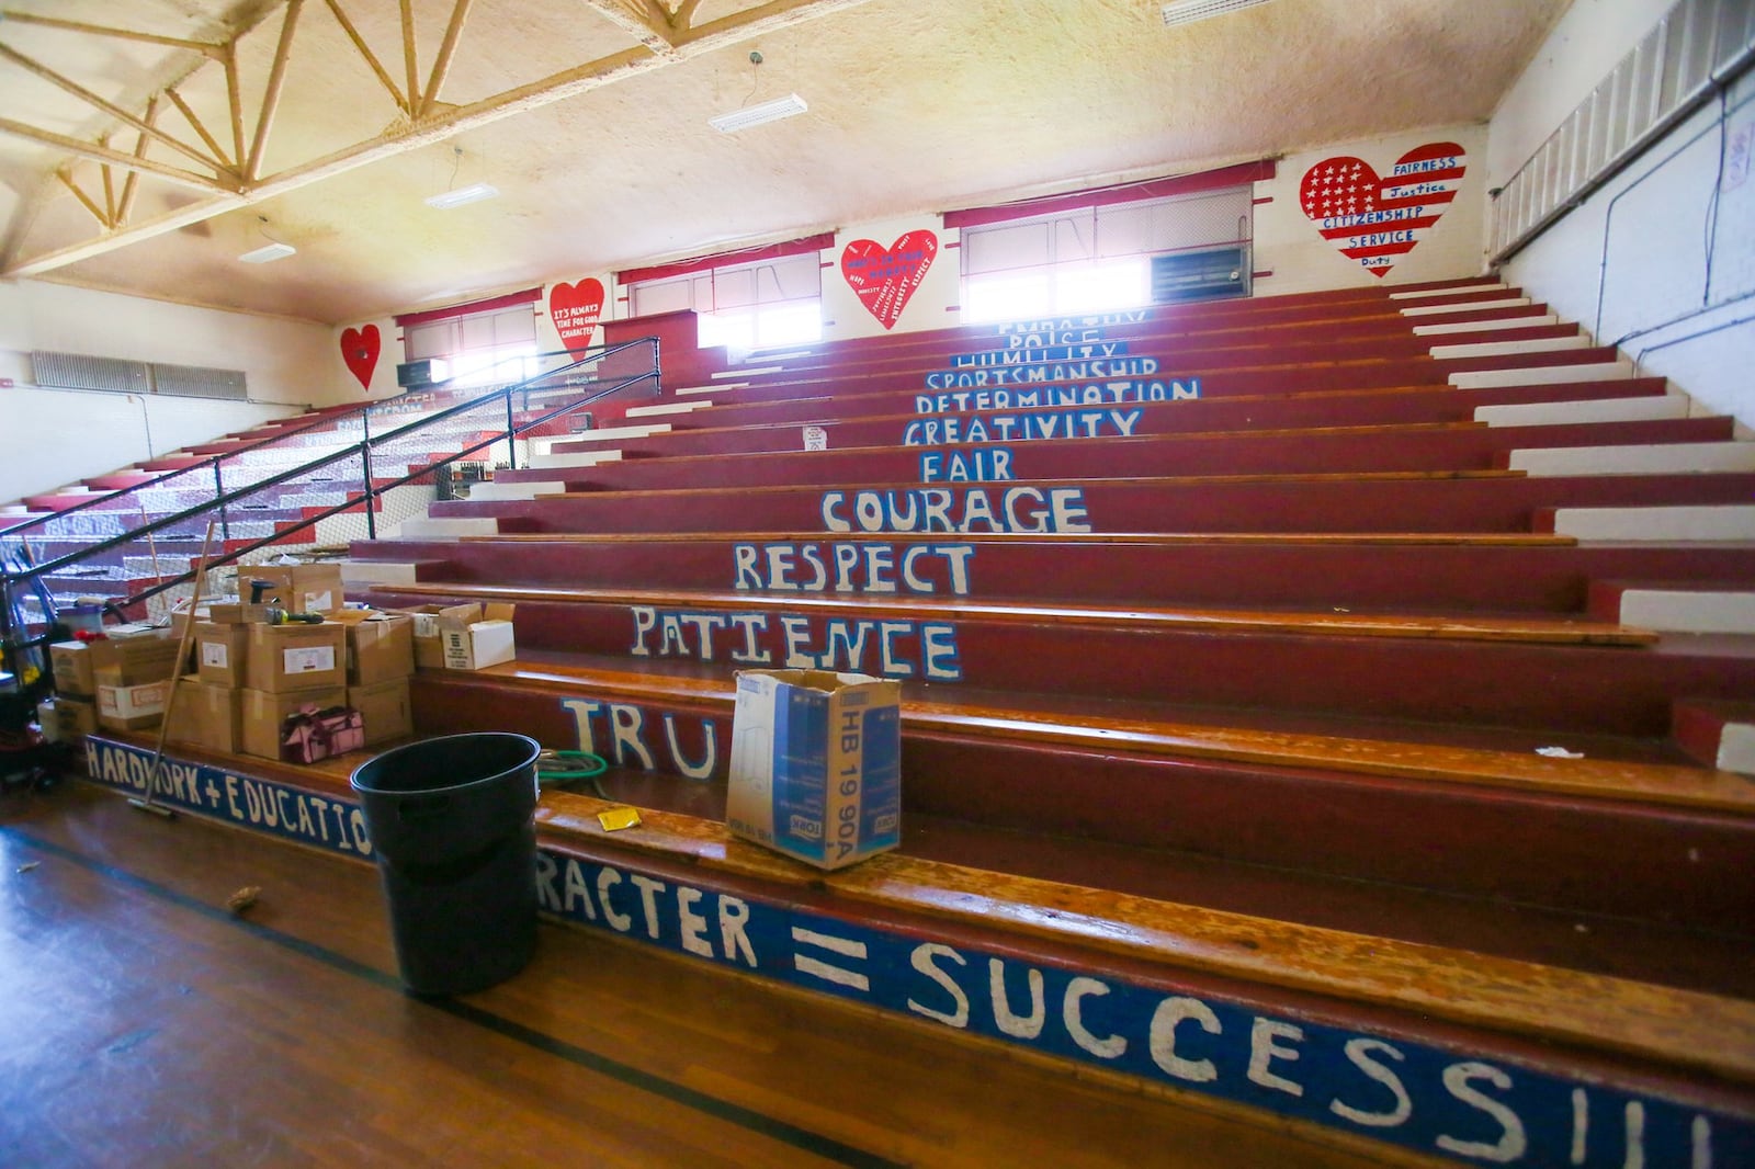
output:
[[[1562,18],[1494,118],[1495,183],[1667,9],[1580,0]],[[1755,176],[1737,163],[1739,139],[1746,160],[1755,139],[1748,75],[1511,256],[1502,276],[1601,344],[1620,346],[1641,372],[1669,377],[1701,412],[1755,425],[1755,323],[1746,319],[1755,316]]]

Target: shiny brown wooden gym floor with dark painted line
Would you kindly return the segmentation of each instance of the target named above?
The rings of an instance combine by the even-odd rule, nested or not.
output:
[[[556,925],[412,999],[367,865],[0,800],[0,1165],[1408,1162],[1376,1153]]]

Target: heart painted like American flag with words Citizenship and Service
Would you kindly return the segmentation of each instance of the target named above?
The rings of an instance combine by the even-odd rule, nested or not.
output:
[[[1388,176],[1362,158],[1337,154],[1304,172],[1299,204],[1343,256],[1381,277],[1457,198],[1464,161],[1455,142],[1416,146]]]

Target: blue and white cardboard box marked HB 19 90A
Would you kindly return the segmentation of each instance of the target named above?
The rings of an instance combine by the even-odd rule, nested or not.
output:
[[[902,841],[902,685],[739,671],[727,823],[820,869]]]

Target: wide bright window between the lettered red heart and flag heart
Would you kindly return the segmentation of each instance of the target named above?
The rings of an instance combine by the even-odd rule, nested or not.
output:
[[[963,321],[1139,309],[1158,256],[1246,247],[1253,188],[1058,209],[962,230]]]

